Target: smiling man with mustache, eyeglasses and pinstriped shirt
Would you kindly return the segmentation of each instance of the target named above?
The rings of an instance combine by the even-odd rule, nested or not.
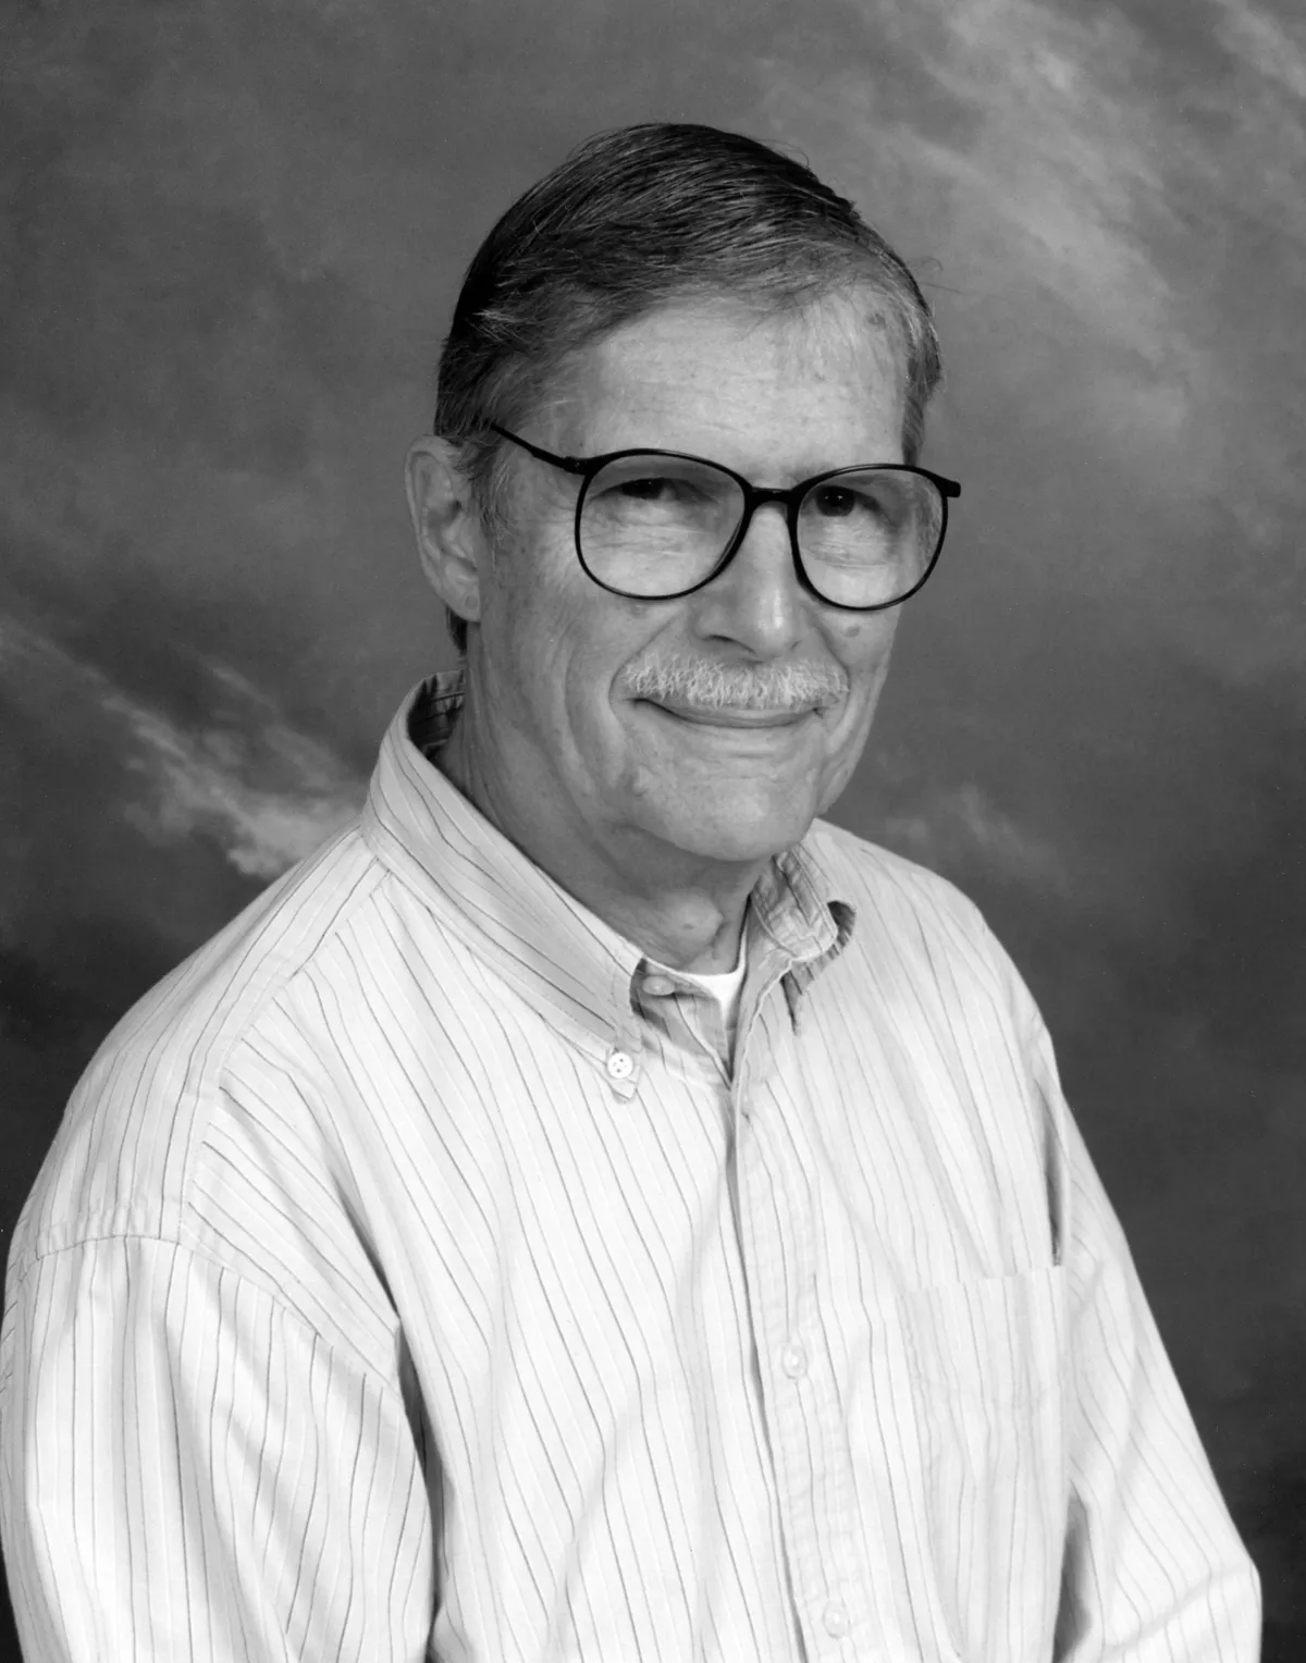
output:
[[[30,1658],[1251,1663],[1020,978],[817,818],[957,496],[937,379],[735,135],[491,233],[408,471],[464,669],[115,1031],[13,1242]]]

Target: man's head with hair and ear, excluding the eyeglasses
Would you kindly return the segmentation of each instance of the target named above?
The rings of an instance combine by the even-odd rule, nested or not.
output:
[[[564,457],[689,452],[789,487],[915,462],[937,381],[902,261],[752,140],[596,138],[504,215],[454,313],[436,437],[409,459],[428,575],[467,647],[467,742],[494,777],[486,795],[509,800],[501,822],[529,797],[556,835],[616,868],[637,860],[651,883],[677,855],[762,860],[847,783],[897,614],[804,587],[775,504],[692,594],[612,594],[577,557],[581,481],[496,429]],[[765,727],[740,725],[759,712]]]

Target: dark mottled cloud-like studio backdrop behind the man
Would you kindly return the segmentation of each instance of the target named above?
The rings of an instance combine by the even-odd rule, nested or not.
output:
[[[800,151],[935,303],[965,494],[835,818],[1030,980],[1306,1656],[1294,0],[0,7],[5,1239],[111,1023],[449,664],[401,461],[458,281],[654,118]]]

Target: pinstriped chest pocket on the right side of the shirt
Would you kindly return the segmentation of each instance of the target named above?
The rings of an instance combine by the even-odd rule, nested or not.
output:
[[[915,1596],[957,1656],[1048,1655],[1068,1497],[1063,1271],[908,1290],[882,1340],[915,1430]]]

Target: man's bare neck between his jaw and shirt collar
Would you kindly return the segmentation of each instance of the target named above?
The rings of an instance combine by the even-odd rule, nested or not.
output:
[[[438,767],[554,883],[662,965],[702,975],[735,968],[749,893],[765,861],[699,860],[636,832],[599,845],[576,827],[542,825],[502,788],[511,770],[487,765],[476,738],[464,705]]]

